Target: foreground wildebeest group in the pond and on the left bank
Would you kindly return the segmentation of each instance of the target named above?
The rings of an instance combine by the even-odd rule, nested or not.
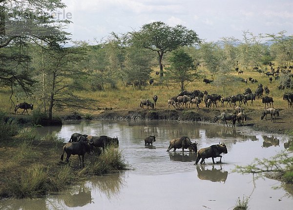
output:
[[[156,141],[156,137],[154,135],[148,136],[144,139],[145,146],[150,146],[153,144],[153,142]],[[61,155],[61,160],[63,161],[64,152],[66,152],[66,163],[69,163],[69,158],[71,155],[78,155],[79,157],[79,167],[84,167],[84,155],[85,153],[94,153],[93,148],[94,147],[102,147],[103,151],[105,152],[105,147],[108,147],[110,145],[113,145],[114,147],[119,146],[118,137],[108,137],[108,136],[90,136],[86,134],[80,134],[80,133],[73,133],[70,137],[70,140],[68,143],[66,143],[63,146],[63,153]],[[195,152],[197,153],[197,164],[200,159],[200,164],[205,163],[206,158],[212,158],[213,164],[214,158],[220,157],[220,163],[222,160],[221,153],[228,153],[227,147],[224,143],[219,145],[212,145],[207,148],[201,148],[197,152],[197,143],[192,143],[190,139],[187,136],[183,136],[181,138],[172,139],[169,142],[169,147],[167,149],[167,152],[170,151],[170,149],[173,148],[173,152],[176,151],[176,149],[182,148],[182,151],[184,152],[184,149],[188,149],[189,152]]]

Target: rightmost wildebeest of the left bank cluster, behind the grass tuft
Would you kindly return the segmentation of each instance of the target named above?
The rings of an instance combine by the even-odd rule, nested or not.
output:
[[[108,137],[108,136],[88,136],[86,137],[86,141],[89,143],[91,150],[93,151],[94,147],[102,147],[103,151],[105,151],[105,147],[113,145],[115,147],[119,146],[118,137]]]

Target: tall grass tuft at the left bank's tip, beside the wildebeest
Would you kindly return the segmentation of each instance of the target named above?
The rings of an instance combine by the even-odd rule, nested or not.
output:
[[[98,160],[94,163],[92,171],[95,174],[102,175],[115,170],[126,169],[127,164],[122,152],[114,146],[105,149]]]

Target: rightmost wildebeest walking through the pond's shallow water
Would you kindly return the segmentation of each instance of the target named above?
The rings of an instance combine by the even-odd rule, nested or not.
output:
[[[221,155],[222,153],[225,153],[225,154],[228,153],[227,147],[224,143],[222,143],[220,145],[212,145],[207,148],[201,148],[197,152],[197,159],[196,159],[195,164],[197,164],[200,159],[202,159],[200,164],[203,164],[205,159],[210,158],[210,157],[212,159],[213,164],[215,164],[214,158],[220,157],[219,163],[221,163],[222,162],[222,155]]]

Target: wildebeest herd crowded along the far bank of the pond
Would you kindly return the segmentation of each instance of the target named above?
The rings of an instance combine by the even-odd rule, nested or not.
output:
[[[266,96],[263,95],[263,93],[266,93]],[[275,109],[273,106],[273,98],[268,96],[268,94],[270,93],[270,90],[267,86],[265,86],[263,88],[262,84],[258,84],[257,88],[255,90],[254,93],[252,93],[251,89],[245,88],[243,93],[240,94],[236,94],[236,95],[231,95],[231,96],[226,96],[223,97],[220,94],[217,93],[212,93],[209,94],[207,91],[205,92],[201,92],[200,90],[194,90],[193,92],[189,92],[187,90],[182,91],[181,93],[179,93],[176,96],[173,96],[171,98],[168,99],[167,101],[167,107],[168,109],[170,109],[172,106],[175,109],[183,109],[183,108],[190,108],[193,109],[193,105],[196,108],[196,110],[199,110],[199,105],[201,102],[205,103],[205,107],[207,109],[210,109],[211,106],[213,107],[220,107],[219,106],[219,102],[221,102],[221,107],[225,107],[225,103],[226,103],[226,107],[228,106],[228,104],[230,105],[230,107],[232,107],[233,105],[233,109],[235,111],[233,111],[233,113],[226,113],[223,112],[220,115],[217,115],[214,117],[214,121],[217,122],[218,120],[221,120],[224,122],[224,126],[225,124],[228,126],[227,121],[231,121],[232,122],[232,127],[235,126],[236,121],[238,122],[238,126],[242,126],[244,125],[244,122],[246,122],[247,119],[247,113],[245,113],[245,108],[241,105],[253,105],[253,101],[255,101],[256,99],[261,99],[262,103],[265,105],[264,111],[266,112],[266,109],[269,108],[269,104],[270,104],[270,108],[272,106],[272,110],[271,111],[272,114],[272,122],[275,123],[276,122],[276,116],[279,116],[279,109]],[[293,108],[293,93],[285,93],[283,96],[284,100],[288,101],[288,108]],[[142,108],[144,108],[144,105],[146,105],[147,108],[152,107],[154,108],[154,105],[156,105],[156,102],[158,100],[158,96],[154,95],[153,97],[153,101],[154,103],[152,103],[149,99],[147,100],[141,100],[141,104],[140,106]],[[239,103],[239,105],[237,106],[237,104]],[[261,114],[261,120],[263,120],[263,113]],[[265,118],[267,120],[267,118]]]

